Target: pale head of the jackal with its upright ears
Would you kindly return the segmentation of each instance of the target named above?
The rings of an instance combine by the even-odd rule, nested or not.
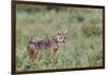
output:
[[[58,36],[57,36],[58,42],[64,42],[66,39],[66,34],[68,34],[68,30],[58,32]]]

